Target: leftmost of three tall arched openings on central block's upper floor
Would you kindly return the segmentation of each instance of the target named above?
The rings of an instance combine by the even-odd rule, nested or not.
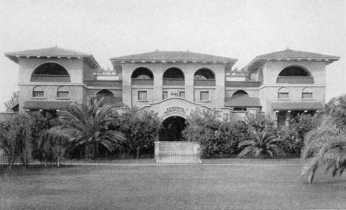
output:
[[[131,75],[132,85],[154,85],[154,75],[149,68],[136,68]]]

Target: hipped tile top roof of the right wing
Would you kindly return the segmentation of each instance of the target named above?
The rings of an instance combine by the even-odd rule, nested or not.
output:
[[[283,50],[274,53],[268,53],[256,56],[256,58],[340,58],[333,55],[323,55],[318,53],[310,53],[296,50]]]

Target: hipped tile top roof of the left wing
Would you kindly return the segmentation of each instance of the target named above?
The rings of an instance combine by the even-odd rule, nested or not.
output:
[[[25,55],[25,56],[92,56],[89,53],[82,53],[79,51],[60,48],[59,46],[53,46],[52,48],[42,48],[34,50],[23,50],[7,52],[6,55]]]

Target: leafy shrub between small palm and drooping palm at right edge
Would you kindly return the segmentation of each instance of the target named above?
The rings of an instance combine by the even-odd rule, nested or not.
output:
[[[290,154],[300,154],[304,145],[304,135],[316,128],[320,123],[318,115],[298,114],[296,118],[289,121],[289,126],[282,126],[277,129],[277,137],[281,139],[280,147]]]

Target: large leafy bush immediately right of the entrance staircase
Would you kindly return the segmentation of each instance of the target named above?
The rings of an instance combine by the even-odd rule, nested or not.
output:
[[[220,121],[214,111],[191,112],[183,136],[190,142],[200,144],[201,155],[223,155],[237,152],[238,143],[247,139],[247,126],[231,124],[228,119]]]

